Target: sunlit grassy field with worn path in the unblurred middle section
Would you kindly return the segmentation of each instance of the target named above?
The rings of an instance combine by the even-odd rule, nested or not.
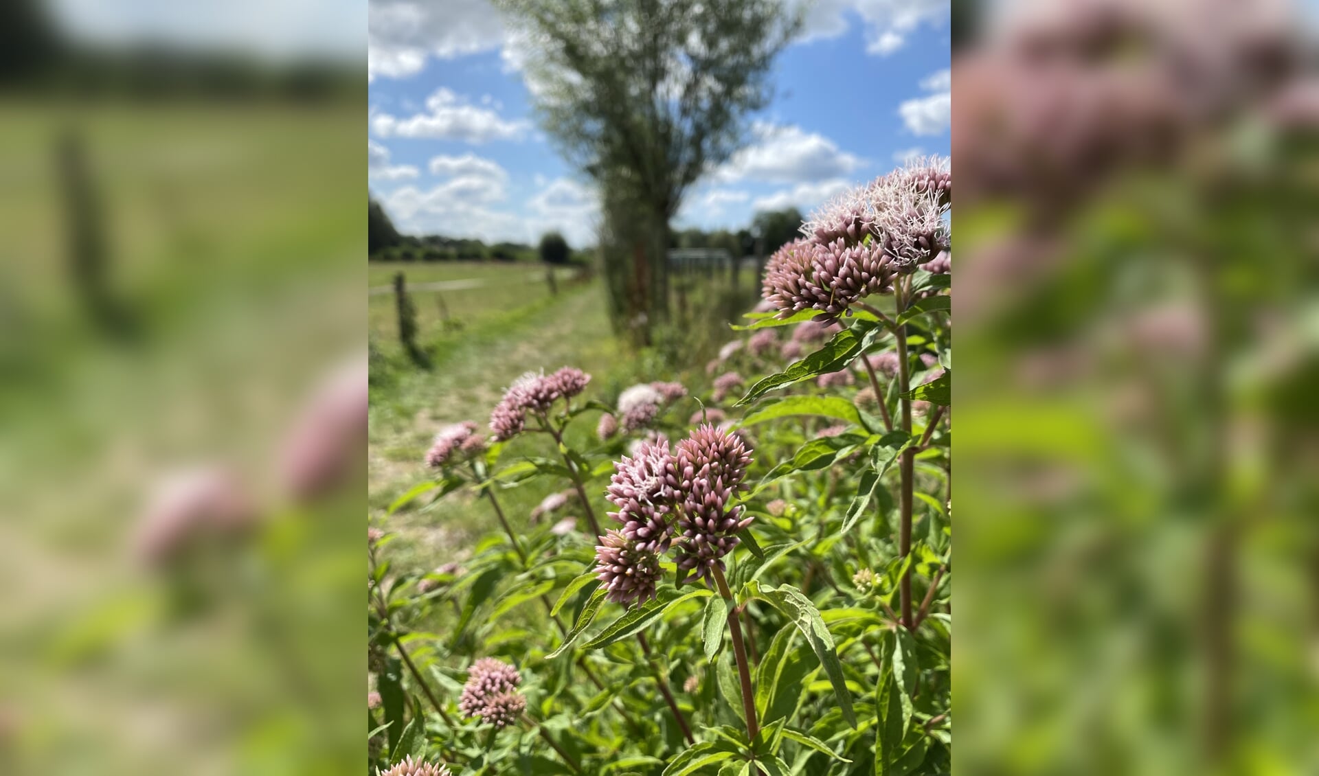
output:
[[[375,267],[373,267],[375,269]],[[431,270],[431,267],[426,267]],[[464,269],[480,270],[464,275]],[[388,277],[381,269],[376,275]],[[480,277],[488,286],[452,294],[472,306],[463,328],[445,329],[437,321],[422,323],[421,343],[431,357],[430,369],[418,369],[404,357],[393,315],[393,299],[371,298],[373,361],[371,393],[371,457],[368,464],[369,509],[383,518],[389,505],[430,472],[422,458],[437,431],[450,423],[474,420],[483,428],[504,387],[528,370],[578,366],[592,375],[591,398],[612,402],[636,382],[681,379],[696,386],[708,379],[703,365],[720,344],[732,339],[727,310],[749,307],[744,296],[731,303],[727,289],[714,283],[692,296],[691,307],[703,311],[695,320],[679,323],[656,346],[633,352],[612,336],[605,312],[604,290],[598,281],[561,283],[558,296],[550,296],[543,283],[526,282],[526,267],[499,265],[438,265],[430,278],[458,279]],[[448,296],[448,295],[447,295]],[[413,298],[418,312],[427,306],[425,294]],[[699,303],[707,299],[710,303]],[[385,302],[385,304],[381,304]],[[587,412],[568,430],[574,447],[594,448],[599,412]],[[547,437],[525,435],[506,448],[505,460],[521,455],[554,455]],[[605,480],[591,484],[603,489]],[[549,485],[532,484],[500,495],[514,528],[525,526],[530,510],[549,495]],[[429,570],[450,560],[460,560],[467,548],[497,523],[489,506],[468,494],[454,494],[430,510],[405,509],[388,519],[396,534],[390,545],[393,563],[415,570]],[[582,536],[594,541],[592,536]]]

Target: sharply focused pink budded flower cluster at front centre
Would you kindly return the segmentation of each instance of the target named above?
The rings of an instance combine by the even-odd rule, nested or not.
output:
[[[670,449],[667,441],[641,443],[615,464],[607,498],[620,523],[596,547],[598,578],[608,598],[645,603],[656,597],[660,556],[675,549],[679,582],[703,578],[737,545],[751,524],[728,502],[741,487],[751,452],[735,433],[704,424]],[[723,568],[720,565],[720,568]]]

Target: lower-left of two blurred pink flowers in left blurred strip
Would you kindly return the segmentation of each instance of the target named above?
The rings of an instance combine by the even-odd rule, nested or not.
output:
[[[257,516],[241,482],[228,468],[214,465],[183,472],[157,486],[137,524],[133,551],[149,564],[164,563],[202,534],[233,534],[249,527]]]

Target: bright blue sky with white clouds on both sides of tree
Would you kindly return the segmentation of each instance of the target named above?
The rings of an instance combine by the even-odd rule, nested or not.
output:
[[[595,241],[590,182],[536,125],[520,51],[485,0],[371,0],[369,186],[400,228]],[[777,61],[751,145],[689,191],[677,227],[809,212],[911,153],[948,153],[947,0],[819,0]]]

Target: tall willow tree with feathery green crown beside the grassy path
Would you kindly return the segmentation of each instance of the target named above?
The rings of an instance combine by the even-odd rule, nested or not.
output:
[[[600,191],[601,237],[625,237],[612,256],[601,245],[613,307],[630,312],[615,320],[663,321],[669,221],[745,142],[801,16],[782,0],[496,3],[542,126]]]

